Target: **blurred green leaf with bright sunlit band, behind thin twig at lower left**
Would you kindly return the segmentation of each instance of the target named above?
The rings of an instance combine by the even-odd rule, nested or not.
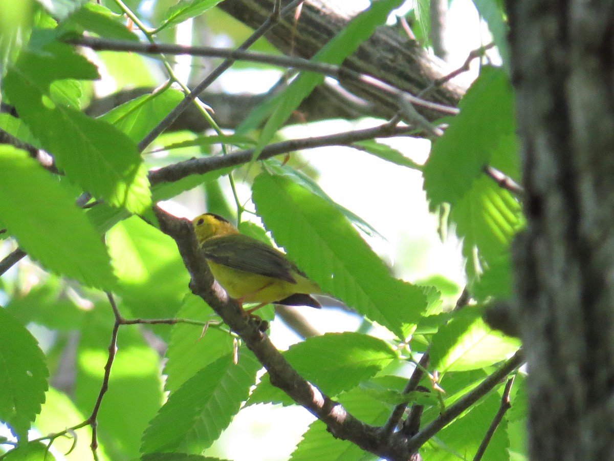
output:
[[[95,305],[80,332],[74,400],[84,414],[90,414],[100,392],[113,320],[108,302]],[[141,435],[163,401],[160,357],[144,341],[139,325],[123,325],[118,345],[98,413],[98,437],[112,460],[139,455]]]

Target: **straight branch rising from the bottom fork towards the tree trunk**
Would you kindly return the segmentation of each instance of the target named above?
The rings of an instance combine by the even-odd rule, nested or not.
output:
[[[521,366],[524,362],[523,350],[519,349],[501,368],[492,373],[480,384],[478,384],[471,392],[468,392],[459,400],[451,404],[443,411],[437,419],[433,420],[429,425],[419,431],[409,443],[411,452],[417,452],[418,449],[426,443],[433,435],[438,433],[442,428],[446,427],[457,416],[472,406],[476,401],[480,400],[487,393],[491,392],[508,374]]]

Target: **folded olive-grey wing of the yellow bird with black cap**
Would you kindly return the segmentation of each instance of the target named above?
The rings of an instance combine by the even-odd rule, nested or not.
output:
[[[284,253],[248,235],[211,238],[203,242],[201,249],[207,259],[222,266],[297,283],[292,272],[298,269]]]

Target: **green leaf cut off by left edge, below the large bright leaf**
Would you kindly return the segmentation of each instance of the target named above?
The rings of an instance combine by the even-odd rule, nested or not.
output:
[[[0,325],[0,420],[27,441],[30,424],[45,401],[49,371],[36,339],[1,308]]]

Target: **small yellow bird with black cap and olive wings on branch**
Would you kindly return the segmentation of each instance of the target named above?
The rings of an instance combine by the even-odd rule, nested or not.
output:
[[[284,305],[322,305],[309,294],[322,290],[286,254],[239,230],[222,216],[206,213],[192,221],[196,240],[213,277],[240,304],[257,302],[247,313],[273,302]]]

